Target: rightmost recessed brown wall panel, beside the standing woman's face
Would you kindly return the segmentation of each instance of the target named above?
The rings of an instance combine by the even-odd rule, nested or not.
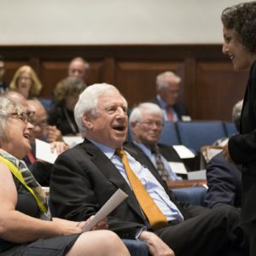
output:
[[[196,68],[195,119],[230,119],[244,96],[247,72],[235,72],[230,62],[200,61]]]

